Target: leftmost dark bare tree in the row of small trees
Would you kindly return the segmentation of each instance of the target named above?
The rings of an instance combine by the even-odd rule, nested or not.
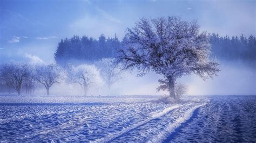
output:
[[[13,87],[21,95],[22,85],[28,76],[28,65],[24,63],[6,63],[1,68],[1,79],[8,87]]]

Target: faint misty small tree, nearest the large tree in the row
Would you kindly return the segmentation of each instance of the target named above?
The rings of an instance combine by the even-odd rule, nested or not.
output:
[[[100,76],[109,89],[111,88],[111,85],[122,78],[122,72],[114,63],[114,58],[103,58],[96,62],[96,66],[100,71]]]

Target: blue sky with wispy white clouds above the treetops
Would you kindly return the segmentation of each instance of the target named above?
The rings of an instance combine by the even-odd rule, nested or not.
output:
[[[0,1],[0,63],[53,61],[58,42],[72,35],[122,39],[141,17],[197,19],[202,31],[255,35],[256,1]]]

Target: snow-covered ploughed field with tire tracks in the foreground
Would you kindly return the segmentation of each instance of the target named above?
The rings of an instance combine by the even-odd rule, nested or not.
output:
[[[1,141],[256,141],[256,96],[0,95]],[[158,101],[158,102],[157,102]]]

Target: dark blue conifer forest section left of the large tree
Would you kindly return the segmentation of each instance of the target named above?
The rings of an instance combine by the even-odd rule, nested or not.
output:
[[[67,65],[72,61],[95,62],[103,58],[113,58],[120,47],[117,35],[114,38],[105,38],[102,34],[99,39],[80,38],[74,35],[71,39],[61,40],[55,52],[55,60],[59,65]]]

